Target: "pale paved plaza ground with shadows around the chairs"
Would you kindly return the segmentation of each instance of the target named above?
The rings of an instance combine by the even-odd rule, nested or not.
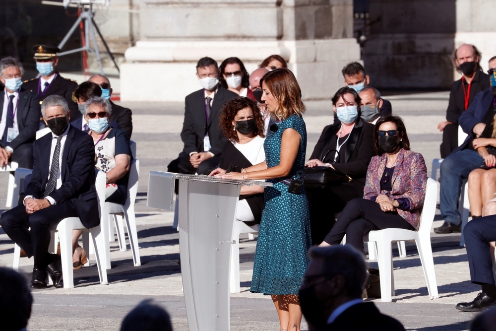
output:
[[[406,122],[411,147],[421,152],[429,169],[439,157],[441,133],[437,123],[444,120],[448,92],[401,94],[386,97],[393,113]],[[111,243],[112,269],[109,285],[100,285],[95,260],[89,267],[74,270],[73,289],[53,287],[33,291],[34,306],[28,330],[99,330],[117,331],[126,313],[143,299],[153,298],[167,308],[174,330],[188,330],[179,260],[179,235],[172,229],[173,213],[146,206],[148,173],[166,171],[167,164],[182,149],[180,132],[184,105],[181,103],[122,103],[133,110],[132,140],[137,143],[140,180],[136,200],[136,222],[141,266],[134,267],[127,243],[121,252]],[[333,122],[332,107],[327,101],[307,102],[305,115],[310,153],[323,127]],[[6,174],[0,173],[0,187],[6,188]],[[5,195],[0,197],[0,213]],[[4,208],[4,207],[3,207]],[[438,214],[438,212],[437,212]],[[434,226],[442,220],[436,215]],[[243,237],[242,237],[243,238]],[[439,299],[430,300],[426,281],[414,244],[407,243],[408,257],[400,259],[394,245],[396,296],[393,302],[374,300],[378,308],[400,320],[407,330],[468,330],[473,313],[462,313],[454,306],[471,301],[480,286],[470,283],[466,251],[458,246],[460,235],[432,233],[434,267]],[[232,330],[279,330],[270,297],[249,292],[256,245],[248,238],[241,240],[242,292],[231,295]],[[11,266],[13,243],[0,229],[0,265]],[[93,257],[91,257],[93,258]],[[20,271],[30,277],[32,259],[21,259]],[[375,266],[372,263],[372,266]],[[307,330],[304,322],[302,330]]]

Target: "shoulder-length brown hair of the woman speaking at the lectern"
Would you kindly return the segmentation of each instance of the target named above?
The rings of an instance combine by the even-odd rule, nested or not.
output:
[[[302,101],[302,90],[295,75],[287,68],[278,68],[267,72],[260,79],[260,87],[265,84],[277,101],[273,114],[278,120],[286,120],[293,114],[301,116],[307,108]]]

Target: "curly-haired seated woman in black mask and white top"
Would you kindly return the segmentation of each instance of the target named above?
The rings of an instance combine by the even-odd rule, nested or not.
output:
[[[222,146],[220,169],[212,174],[233,166],[232,171],[241,172],[265,160],[263,118],[255,101],[238,97],[226,102],[221,109],[220,127],[228,141]],[[262,208],[263,187],[242,186],[236,219],[249,226],[260,224]]]

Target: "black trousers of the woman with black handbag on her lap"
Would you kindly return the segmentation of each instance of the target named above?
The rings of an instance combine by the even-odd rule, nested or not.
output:
[[[310,234],[312,245],[320,244],[335,223],[340,212],[352,199],[364,196],[362,183],[343,183],[323,189],[308,189],[310,207]]]

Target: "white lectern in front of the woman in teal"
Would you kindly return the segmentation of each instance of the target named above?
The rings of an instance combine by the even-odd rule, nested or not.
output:
[[[153,173],[160,181],[160,175]],[[165,197],[173,197],[176,179],[181,274],[189,330],[229,331],[231,244],[241,186],[267,187],[272,183],[174,174],[171,196]]]

